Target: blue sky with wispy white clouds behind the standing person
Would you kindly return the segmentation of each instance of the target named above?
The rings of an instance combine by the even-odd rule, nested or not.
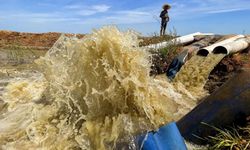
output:
[[[89,33],[112,24],[153,35],[164,3],[178,34],[250,33],[249,0],[0,0],[0,30]]]

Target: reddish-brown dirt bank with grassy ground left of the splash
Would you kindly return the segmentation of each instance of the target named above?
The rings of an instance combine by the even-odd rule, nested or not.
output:
[[[0,66],[20,66],[32,64],[43,56],[62,33],[22,33],[0,31]],[[73,36],[74,34],[65,34]],[[83,34],[77,34],[78,38]]]

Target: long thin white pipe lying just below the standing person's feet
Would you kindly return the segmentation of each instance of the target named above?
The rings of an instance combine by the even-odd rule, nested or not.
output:
[[[195,36],[197,35],[214,35],[213,33],[201,33],[201,32],[196,32],[196,33],[192,33],[192,34],[188,34],[188,35],[184,35],[175,39],[172,39],[170,41],[166,41],[166,42],[161,42],[161,43],[157,43],[157,44],[150,44],[148,46],[145,46],[144,48],[147,49],[161,49],[164,47],[167,47],[168,45],[171,44],[187,44],[190,42],[193,42],[195,40]]]

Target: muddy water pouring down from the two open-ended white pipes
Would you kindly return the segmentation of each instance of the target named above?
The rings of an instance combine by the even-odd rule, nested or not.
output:
[[[225,57],[225,54],[209,54],[207,57],[194,55],[178,72],[175,84],[183,84],[194,96],[203,97],[208,93],[203,89],[210,72]]]

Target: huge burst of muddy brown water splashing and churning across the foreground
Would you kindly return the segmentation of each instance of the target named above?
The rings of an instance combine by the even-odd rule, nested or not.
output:
[[[204,91],[207,67],[199,67],[192,79],[185,78],[190,73],[183,69],[178,83],[152,78],[150,54],[138,43],[135,33],[115,27],[104,27],[83,39],[60,37],[36,61],[40,72],[13,78],[5,87],[1,148],[115,149],[117,143],[190,111],[201,98],[191,87]],[[189,65],[190,69],[199,66]],[[197,85],[193,78],[200,73],[204,79]],[[136,149],[133,141],[130,144]]]

